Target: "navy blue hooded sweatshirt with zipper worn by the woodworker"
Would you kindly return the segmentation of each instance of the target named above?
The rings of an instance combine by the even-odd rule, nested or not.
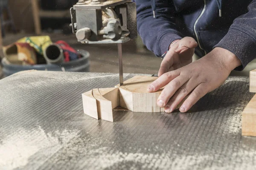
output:
[[[221,47],[242,70],[256,57],[256,0],[135,0],[140,37],[158,57],[183,37],[198,42],[199,57]]]

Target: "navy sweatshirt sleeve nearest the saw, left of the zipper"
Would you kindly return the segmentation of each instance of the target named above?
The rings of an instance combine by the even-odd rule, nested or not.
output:
[[[136,4],[138,33],[146,47],[160,57],[171,42],[183,37],[175,25],[175,6],[169,0],[136,0]]]

